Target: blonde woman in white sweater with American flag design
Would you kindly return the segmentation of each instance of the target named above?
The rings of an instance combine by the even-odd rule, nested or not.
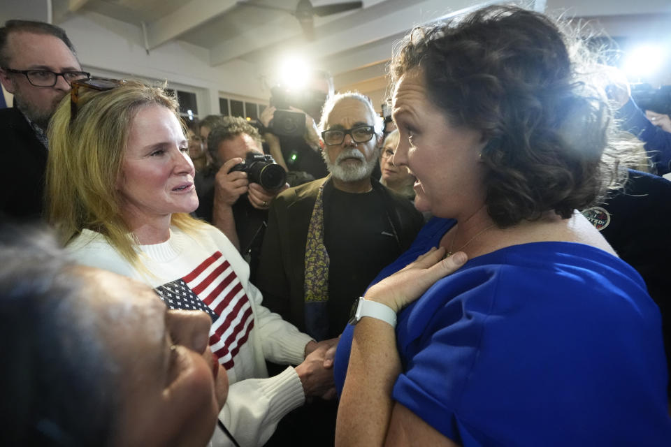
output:
[[[162,89],[73,82],[50,126],[48,217],[78,263],[143,281],[171,309],[210,315],[210,349],[231,383],[219,420],[241,445],[262,445],[305,397],[332,395],[333,342],[317,344],[263,307],[233,244],[189,216],[198,197],[188,151]],[[266,359],[298,366],[268,378]],[[215,431],[213,445],[230,443]]]

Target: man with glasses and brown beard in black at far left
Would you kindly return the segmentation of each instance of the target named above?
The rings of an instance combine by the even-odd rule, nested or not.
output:
[[[8,20],[0,28],[0,82],[14,107],[0,110],[6,169],[0,212],[17,219],[41,216],[49,142],[46,131],[74,80],[89,78],[65,31],[52,24]]]

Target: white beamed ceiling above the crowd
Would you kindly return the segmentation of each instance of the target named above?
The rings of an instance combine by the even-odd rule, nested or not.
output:
[[[298,0],[245,0],[259,5],[296,8]],[[315,40],[308,41],[290,13],[242,5],[235,0],[52,0],[54,23],[91,11],[145,27],[146,47],[180,40],[208,50],[210,66],[233,59],[266,70],[287,52],[301,54],[313,66],[335,76],[336,87],[366,84],[383,88],[384,64],[391,50],[414,25],[440,20],[474,4],[473,0],[364,0],[363,8],[315,16]],[[340,3],[314,0],[314,6]],[[527,2],[528,3],[528,2]],[[600,20],[612,36],[668,35],[670,0],[535,0],[536,8]],[[671,45],[670,45],[671,47]]]

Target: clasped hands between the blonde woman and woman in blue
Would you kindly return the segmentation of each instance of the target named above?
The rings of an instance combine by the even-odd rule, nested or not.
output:
[[[305,397],[335,398],[333,384],[333,357],[340,337],[305,345],[305,360],[296,367],[296,373],[303,383]]]

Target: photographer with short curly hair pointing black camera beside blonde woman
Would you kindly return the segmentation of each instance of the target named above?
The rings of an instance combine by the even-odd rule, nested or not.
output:
[[[195,214],[219,228],[250,264],[250,280],[266,231],[268,207],[286,189],[286,173],[261,149],[261,135],[240,117],[224,117],[208,135],[215,160],[212,188],[199,192]]]

